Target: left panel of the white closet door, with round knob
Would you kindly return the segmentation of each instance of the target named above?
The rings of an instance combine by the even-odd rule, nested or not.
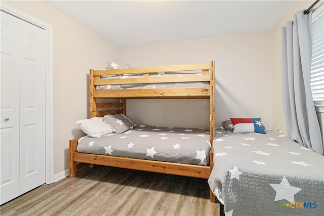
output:
[[[1,12],[1,204],[19,196],[18,19]]]

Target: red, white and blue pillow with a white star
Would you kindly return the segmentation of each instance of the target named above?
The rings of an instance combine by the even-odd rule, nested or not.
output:
[[[259,133],[266,134],[261,118],[230,118],[234,125],[234,134]]]

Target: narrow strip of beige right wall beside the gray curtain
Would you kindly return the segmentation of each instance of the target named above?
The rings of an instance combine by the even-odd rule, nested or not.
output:
[[[307,9],[312,4],[312,1],[298,1],[273,28],[274,41],[274,71],[273,71],[273,126],[280,128],[287,135],[287,128],[282,109],[281,97],[281,27],[286,25],[286,22],[294,19],[294,14],[297,11]]]

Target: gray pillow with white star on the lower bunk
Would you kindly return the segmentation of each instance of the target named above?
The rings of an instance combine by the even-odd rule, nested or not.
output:
[[[103,121],[117,134],[124,133],[129,129],[137,127],[137,124],[124,114],[105,115],[103,116]]]

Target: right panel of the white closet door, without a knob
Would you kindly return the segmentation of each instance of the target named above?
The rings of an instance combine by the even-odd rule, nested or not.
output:
[[[20,193],[46,182],[45,31],[19,20]]]

